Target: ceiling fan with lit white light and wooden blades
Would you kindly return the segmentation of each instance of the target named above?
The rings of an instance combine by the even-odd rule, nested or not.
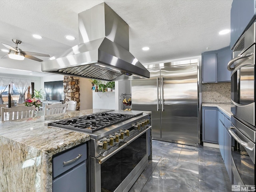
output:
[[[18,48],[18,44],[21,43],[21,40],[12,39],[12,42],[15,43],[15,48],[10,46],[10,45],[8,45],[8,44],[2,43],[3,46],[5,46],[6,48],[8,48],[10,50],[9,53],[6,54],[6,55],[8,55],[9,58],[11,58],[11,59],[24,60],[24,58],[26,57],[28,59],[32,59],[32,60],[35,60],[35,61],[42,62],[43,60],[41,60],[39,58],[36,58],[34,56],[50,57],[50,55],[48,55],[48,54],[22,51],[20,48]],[[4,55],[4,56],[6,56],[6,55]]]

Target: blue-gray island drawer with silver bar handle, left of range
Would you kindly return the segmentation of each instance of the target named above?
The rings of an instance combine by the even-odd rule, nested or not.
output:
[[[79,155],[82,155],[82,156],[78,157]],[[74,160],[75,158],[77,159]],[[86,143],[78,147],[72,148],[70,150],[67,150],[62,154],[56,155],[52,160],[53,177],[55,178],[58,175],[64,173],[70,168],[86,160],[86,158],[87,158]],[[64,165],[64,162],[68,162],[70,160],[74,160],[74,161]]]

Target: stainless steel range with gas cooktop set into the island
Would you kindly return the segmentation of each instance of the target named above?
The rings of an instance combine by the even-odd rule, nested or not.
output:
[[[151,115],[111,110],[52,122],[90,135],[90,192],[127,192],[151,154]]]

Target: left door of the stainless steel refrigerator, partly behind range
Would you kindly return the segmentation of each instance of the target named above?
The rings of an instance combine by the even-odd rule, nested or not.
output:
[[[152,112],[152,138],[161,138],[160,69],[149,69],[150,79],[132,80],[132,110]]]

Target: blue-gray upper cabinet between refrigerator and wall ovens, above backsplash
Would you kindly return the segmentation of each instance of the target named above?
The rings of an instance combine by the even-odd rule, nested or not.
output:
[[[227,69],[232,59],[230,47],[202,53],[202,82],[230,82],[231,72]]]

